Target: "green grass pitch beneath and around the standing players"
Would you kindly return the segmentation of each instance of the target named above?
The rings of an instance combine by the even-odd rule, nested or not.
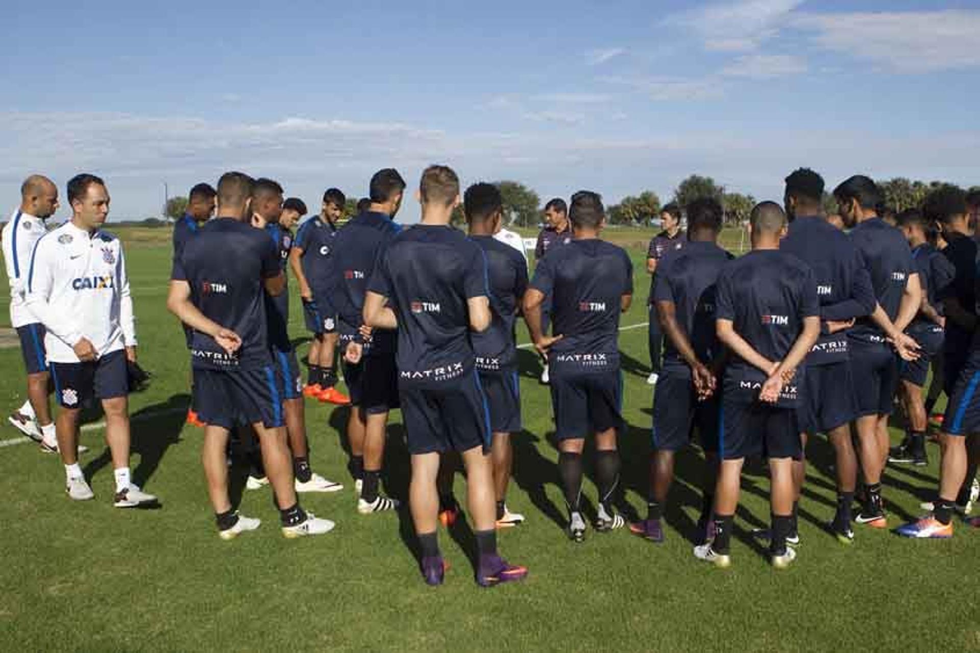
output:
[[[834,489],[829,448],[820,439],[809,451],[800,558],[785,573],[770,569],[748,532],[768,523],[768,482],[758,474],[743,484],[732,569],[693,558],[688,538],[700,506],[701,472],[694,449],[679,457],[661,546],[623,530],[590,530],[584,544],[571,544],[561,527],[549,394],[526,350],[525,430],[515,435],[508,503],[528,520],[500,534],[503,554],[530,568],[526,582],[478,588],[466,555],[472,535],[458,527],[440,535],[453,565],[446,584],[425,586],[408,544],[408,513],[357,514],[339,428],[345,413],[312,403],[307,423],[314,469],[347,487],[306,495],[303,503],[337,528],[322,537],[283,539],[265,489],[245,492],[241,500],[243,512],[261,517],[263,527],[223,542],[199,463],[201,431],[182,424],[188,357],[164,306],[170,233],[126,229],[122,235],[140,360],[154,374],[151,387],[131,398],[132,468],[134,480],[161,497],[162,508],[112,507],[113,475],[97,417],[82,434],[91,451],[81,461],[94,501],[68,499],[56,457],[28,444],[0,447],[2,651],[980,650],[980,532],[959,525],[950,541],[917,542],[858,529],[853,547],[838,544],[821,527],[832,516]],[[611,229],[609,235],[630,246],[641,299],[622,326],[642,325],[650,232]],[[737,248],[737,233],[726,233],[725,240]],[[6,299],[0,303],[6,320]],[[294,334],[305,341],[298,298],[293,309]],[[519,339],[526,342],[526,333]],[[621,442],[625,500],[643,511],[652,403],[646,329],[623,330],[620,348],[629,425]],[[4,410],[12,410],[24,399],[20,352],[0,351],[0,366],[0,397]],[[19,435],[6,427],[0,439]],[[400,498],[408,482],[403,440],[396,412],[384,482]],[[926,469],[887,471],[893,526],[917,516],[918,503],[932,498],[935,446],[929,454]],[[462,499],[464,483],[457,482]],[[585,491],[594,504],[591,481]]]

